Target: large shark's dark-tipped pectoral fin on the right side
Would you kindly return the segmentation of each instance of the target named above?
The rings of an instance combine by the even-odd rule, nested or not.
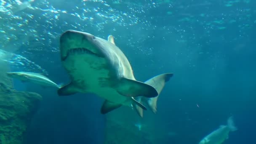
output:
[[[158,95],[157,90],[146,83],[128,78],[122,78],[116,85],[116,91],[128,97],[145,96],[152,98]]]

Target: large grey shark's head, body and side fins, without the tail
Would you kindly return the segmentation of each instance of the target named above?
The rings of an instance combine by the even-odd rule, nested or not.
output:
[[[137,81],[124,53],[108,40],[89,33],[67,30],[60,37],[61,63],[71,82],[58,90],[59,96],[94,93],[105,99],[101,113],[106,114],[122,105],[147,108],[133,97],[158,96],[157,90]]]

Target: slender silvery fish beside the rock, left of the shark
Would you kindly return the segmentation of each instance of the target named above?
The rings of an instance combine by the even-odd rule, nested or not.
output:
[[[51,81],[48,77],[35,72],[7,72],[7,75],[12,78],[17,78],[22,82],[31,82],[42,85],[43,87],[56,87],[61,88],[61,85],[57,85]]]

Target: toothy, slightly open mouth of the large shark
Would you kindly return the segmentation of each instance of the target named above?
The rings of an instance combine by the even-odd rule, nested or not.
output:
[[[67,51],[67,55],[63,57],[62,60],[65,61],[67,57],[69,57],[70,55],[76,55],[76,54],[91,54],[97,57],[102,57],[99,54],[88,50],[87,48],[72,48]]]

